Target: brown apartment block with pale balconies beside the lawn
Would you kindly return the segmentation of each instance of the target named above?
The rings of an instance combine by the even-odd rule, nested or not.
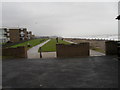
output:
[[[2,42],[19,42],[32,39],[32,32],[28,32],[26,28],[2,28]]]

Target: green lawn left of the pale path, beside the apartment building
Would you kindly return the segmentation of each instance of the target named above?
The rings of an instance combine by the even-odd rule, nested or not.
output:
[[[36,46],[36,45],[38,45],[46,40],[47,39],[33,39],[33,40],[26,41],[24,43],[13,45],[11,47],[16,48],[18,46],[27,46],[27,44],[29,43],[31,45],[30,47],[28,47],[28,49],[29,49],[29,48],[32,48],[33,46]]]

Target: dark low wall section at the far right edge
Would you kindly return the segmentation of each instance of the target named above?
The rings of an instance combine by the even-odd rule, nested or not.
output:
[[[117,55],[118,53],[117,41],[106,41],[105,51],[106,51],[106,55]]]

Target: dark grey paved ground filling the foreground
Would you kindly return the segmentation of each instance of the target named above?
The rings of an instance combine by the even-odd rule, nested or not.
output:
[[[3,88],[117,88],[115,56],[3,60]]]

